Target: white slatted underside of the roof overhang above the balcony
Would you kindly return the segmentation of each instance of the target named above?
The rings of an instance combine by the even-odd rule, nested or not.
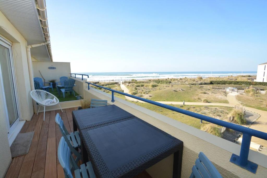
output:
[[[45,42],[35,0],[0,0],[0,11],[26,39],[28,45]],[[31,48],[38,61],[52,61],[46,45]]]

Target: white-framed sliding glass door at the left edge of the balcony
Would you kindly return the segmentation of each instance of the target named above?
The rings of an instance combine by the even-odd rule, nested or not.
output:
[[[0,37],[0,80],[3,90],[7,130],[11,133],[19,121],[17,91],[11,45]]]

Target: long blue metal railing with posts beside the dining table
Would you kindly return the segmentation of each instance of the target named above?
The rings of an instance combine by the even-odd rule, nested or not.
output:
[[[86,82],[86,83],[88,84],[88,90],[90,89],[89,85],[91,84],[91,85],[94,85],[96,87],[100,87],[100,88],[103,88],[105,90],[111,91],[111,98],[112,98],[111,102],[115,101],[114,100],[114,92],[115,92],[115,93],[122,94],[124,96],[135,98],[135,99],[140,100],[140,101],[144,101],[144,102],[147,102],[147,103],[150,103],[150,104],[154,104],[156,106],[160,106],[162,108],[166,108],[166,109],[178,112],[178,113],[185,114],[187,116],[198,118],[200,120],[204,120],[204,121],[207,121],[207,122],[211,122],[213,124],[217,124],[217,125],[229,128],[229,129],[236,130],[238,132],[242,132],[243,133],[243,138],[242,138],[242,143],[241,143],[240,154],[239,154],[239,156],[235,155],[235,154],[232,154],[232,156],[230,158],[230,162],[234,163],[234,164],[236,164],[236,165],[238,165],[238,166],[240,166],[240,167],[242,167],[242,168],[244,168],[244,169],[246,169],[246,170],[248,170],[250,172],[256,173],[258,165],[256,163],[253,163],[253,162],[248,160],[251,137],[254,136],[254,137],[258,137],[260,139],[267,140],[267,133],[261,132],[259,130],[250,129],[250,128],[247,128],[247,127],[244,127],[244,126],[241,126],[241,125],[233,124],[233,123],[230,123],[230,122],[222,121],[222,120],[219,120],[219,119],[215,119],[213,117],[204,116],[202,114],[194,113],[194,112],[191,112],[191,111],[188,111],[188,110],[184,110],[184,109],[176,108],[176,107],[169,106],[169,105],[166,105],[166,104],[162,104],[162,103],[159,103],[159,102],[156,102],[156,101],[151,101],[151,100],[148,100],[148,99],[145,99],[145,98],[141,98],[141,97],[138,97],[138,96],[134,96],[134,95],[131,95],[131,94],[119,92],[117,90],[106,88],[104,86],[96,85],[96,84],[93,84],[93,83],[90,83],[90,82]]]

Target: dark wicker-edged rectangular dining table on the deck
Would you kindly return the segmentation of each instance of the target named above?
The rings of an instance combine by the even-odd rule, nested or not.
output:
[[[98,178],[133,177],[174,154],[173,177],[180,177],[183,142],[116,105],[75,110],[83,162]]]

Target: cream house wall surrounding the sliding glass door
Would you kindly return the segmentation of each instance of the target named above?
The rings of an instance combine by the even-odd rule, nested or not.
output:
[[[30,78],[26,55],[27,41],[9,20],[0,11],[0,36],[12,43],[14,71],[17,80],[18,102],[21,118],[30,120],[33,116],[33,103],[30,97]],[[7,130],[5,128],[7,118],[3,115],[5,102],[3,102],[3,91],[0,87],[0,177],[3,177],[11,162]]]

